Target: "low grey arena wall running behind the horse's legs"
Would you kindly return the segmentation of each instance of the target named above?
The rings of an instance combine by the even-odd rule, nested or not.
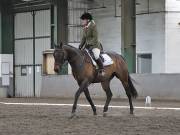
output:
[[[131,74],[131,77],[139,99],[146,96],[152,99],[180,99],[180,74]],[[41,97],[73,98],[77,89],[78,85],[72,75],[43,76]],[[100,84],[91,84],[89,89],[93,98],[106,97]],[[111,90],[113,98],[126,98],[119,80],[112,81]]]

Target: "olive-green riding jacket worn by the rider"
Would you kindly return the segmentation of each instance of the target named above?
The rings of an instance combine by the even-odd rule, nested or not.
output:
[[[83,37],[79,45],[80,48],[87,48],[92,50],[93,48],[101,49],[100,42],[98,41],[98,32],[94,21],[90,21],[89,24],[83,28]]]

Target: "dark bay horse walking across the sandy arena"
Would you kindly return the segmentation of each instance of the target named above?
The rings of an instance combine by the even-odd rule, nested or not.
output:
[[[79,89],[75,94],[74,104],[72,107],[72,117],[75,115],[77,101],[82,92],[84,92],[89,104],[92,107],[94,115],[96,115],[96,107],[88,90],[88,86],[91,83],[101,83],[102,88],[106,93],[107,99],[103,110],[105,115],[108,111],[108,106],[112,98],[110,81],[114,77],[117,77],[122,82],[129,99],[130,114],[133,114],[134,108],[132,104],[132,97],[136,98],[138,94],[129,76],[127,65],[121,55],[114,52],[107,52],[107,54],[112,58],[114,63],[105,67],[104,76],[99,76],[96,68],[91,62],[90,57],[85,53],[85,51],[81,51],[70,45],[61,44],[55,47],[53,54],[55,59],[54,71],[59,72],[64,62],[68,61],[72,67],[73,76],[79,85]]]

